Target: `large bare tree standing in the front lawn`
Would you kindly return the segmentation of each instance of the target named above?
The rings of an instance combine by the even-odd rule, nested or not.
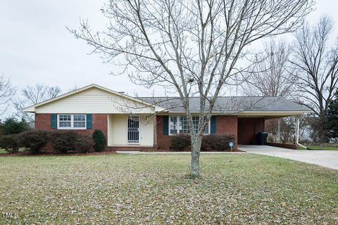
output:
[[[201,137],[216,100],[243,72],[249,45],[294,31],[313,0],[134,0],[113,1],[102,12],[107,30],[92,32],[87,22],[75,37],[104,60],[123,66],[132,82],[177,91],[192,139],[192,177],[199,176]],[[123,63],[120,63],[123,62]],[[199,97],[194,129],[189,99]]]

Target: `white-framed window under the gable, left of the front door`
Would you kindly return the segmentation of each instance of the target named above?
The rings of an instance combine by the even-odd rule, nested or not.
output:
[[[86,115],[59,114],[58,129],[86,129]]]

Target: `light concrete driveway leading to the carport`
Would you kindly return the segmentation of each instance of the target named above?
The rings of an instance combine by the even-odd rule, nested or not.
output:
[[[338,169],[337,150],[292,150],[273,146],[244,146],[239,145],[239,150],[247,153],[270,155],[279,158],[308,162],[322,167]]]

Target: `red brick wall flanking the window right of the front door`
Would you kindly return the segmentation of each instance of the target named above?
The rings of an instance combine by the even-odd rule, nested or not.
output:
[[[218,115],[216,116],[216,134],[234,134],[235,142],[232,150],[237,149],[237,117]],[[158,149],[169,150],[170,136],[163,135],[163,116],[156,116],[156,141]]]

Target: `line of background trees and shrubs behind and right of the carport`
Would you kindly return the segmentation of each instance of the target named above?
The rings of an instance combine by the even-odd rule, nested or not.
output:
[[[332,37],[332,30],[332,19],[324,15],[316,25],[304,23],[289,44],[282,39],[265,42],[263,52],[256,56],[258,63],[251,67],[251,75],[242,86],[244,95],[281,96],[311,110],[311,115],[301,117],[303,141],[337,138],[333,122],[337,121],[333,116],[337,117],[337,108],[330,107],[337,101],[338,85],[338,43],[332,43],[337,39]],[[270,141],[294,142],[294,124],[293,117],[267,120]]]

